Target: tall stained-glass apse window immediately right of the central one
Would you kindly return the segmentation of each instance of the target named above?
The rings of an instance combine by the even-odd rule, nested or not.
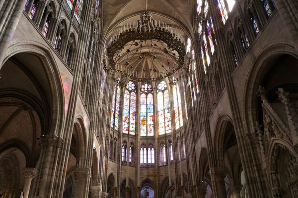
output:
[[[161,81],[157,86],[157,110],[158,134],[171,133],[170,98],[165,81]]]

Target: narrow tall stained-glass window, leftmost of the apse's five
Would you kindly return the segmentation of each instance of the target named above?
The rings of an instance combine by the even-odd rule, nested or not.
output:
[[[111,127],[118,130],[119,127],[119,106],[120,106],[120,87],[115,86],[112,109],[111,109]]]

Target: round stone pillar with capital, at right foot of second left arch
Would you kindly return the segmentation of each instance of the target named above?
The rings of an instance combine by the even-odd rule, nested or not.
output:
[[[85,187],[89,176],[88,168],[76,168],[75,172],[75,197],[84,198]]]

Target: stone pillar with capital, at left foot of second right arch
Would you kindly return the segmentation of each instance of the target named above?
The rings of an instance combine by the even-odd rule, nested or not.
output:
[[[224,185],[225,171],[222,167],[216,167],[212,169],[212,186],[213,195],[215,198],[226,198],[226,191]]]

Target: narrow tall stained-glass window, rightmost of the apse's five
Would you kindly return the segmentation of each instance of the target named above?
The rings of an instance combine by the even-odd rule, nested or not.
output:
[[[182,108],[181,108],[181,96],[178,85],[173,86],[173,100],[175,111],[175,124],[176,130],[183,126]]]

